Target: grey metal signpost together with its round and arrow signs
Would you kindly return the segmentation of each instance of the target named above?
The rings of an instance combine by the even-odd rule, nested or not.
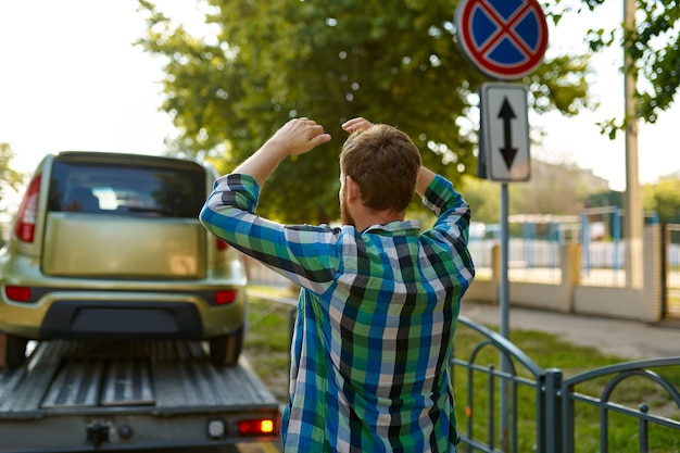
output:
[[[461,0],[455,23],[463,52],[488,76],[502,80],[520,79],[543,61],[547,48],[547,24],[538,0]],[[499,304],[501,335],[508,338],[507,183],[528,180],[530,176],[527,92],[520,86],[484,84],[480,98],[481,159],[478,172],[481,177],[502,183]],[[502,352],[500,361],[500,440],[502,451],[509,451],[509,385],[506,376],[509,376],[512,364]]]

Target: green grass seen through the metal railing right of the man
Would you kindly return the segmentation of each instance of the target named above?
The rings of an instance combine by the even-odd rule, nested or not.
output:
[[[476,331],[459,326],[456,332],[455,356],[459,360],[469,360],[470,353],[484,338]],[[575,345],[559,338],[541,331],[514,330],[511,332],[511,341],[527,354],[536,364],[543,369],[558,368],[564,379],[580,375],[584,372],[594,370],[609,365],[627,362],[626,360],[613,355],[600,353],[594,348]],[[516,373],[525,380],[533,380],[529,372],[522,365],[514,362]],[[475,360],[475,364],[480,367],[493,365],[496,370],[501,369],[498,350],[486,347]],[[676,389],[680,389],[680,367],[665,367],[655,369],[655,373],[663,376]],[[494,392],[494,412],[489,415],[490,388],[496,389],[498,382],[489,385],[489,375],[482,372],[474,372],[471,378],[464,367],[455,367],[454,394],[456,395],[456,410],[462,432],[476,440],[489,443],[489,431],[491,424],[495,432],[499,431],[496,414],[501,413],[500,397],[498,390]],[[613,383],[614,375],[590,380],[579,385],[575,390],[578,393],[588,395],[594,401],[603,397],[603,391],[607,385]],[[473,379],[474,392],[468,395],[468,383]],[[529,385],[518,385],[517,398],[517,424],[518,424],[518,451],[537,451],[536,448],[536,426],[537,420],[543,417],[537,413],[537,392],[534,387]],[[680,408],[672,404],[670,395],[646,377],[632,375],[614,386],[614,390],[608,398],[609,402],[621,406],[637,410],[641,403],[650,406],[651,413],[662,415],[673,420],[680,420]],[[596,405],[577,402],[575,404],[575,439],[577,451],[600,452],[601,451],[601,414]],[[471,414],[471,431],[468,432],[466,414]],[[639,452],[639,426],[638,419],[625,416],[615,412],[609,412],[608,417],[608,446],[610,452]],[[494,436],[498,438],[498,436]],[[499,440],[495,439],[496,445]],[[650,452],[670,453],[680,452],[680,436],[677,429],[650,426]]]

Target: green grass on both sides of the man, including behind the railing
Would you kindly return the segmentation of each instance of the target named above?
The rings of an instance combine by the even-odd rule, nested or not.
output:
[[[292,297],[289,290],[255,288],[256,291],[266,291],[273,297]],[[256,373],[269,387],[281,404],[288,402],[288,366],[290,348],[290,322],[291,307],[278,302],[251,297],[250,299],[250,327],[245,337],[244,353],[249,357]],[[483,338],[473,329],[459,325],[456,332],[455,355],[462,360],[469,360],[469,354]],[[626,360],[613,355],[600,353],[594,348],[584,348],[562,341],[556,336],[541,331],[514,330],[511,332],[511,341],[527,354],[536,364],[543,369],[558,368],[563,378],[568,379],[581,373],[597,369],[608,365],[626,362]],[[482,367],[494,364],[500,369],[499,353],[492,348],[482,348],[475,363]],[[456,415],[458,428],[467,432],[466,412],[473,411],[473,436],[482,442],[489,442],[491,424],[498,424],[489,416],[490,387],[488,374],[473,374],[473,393],[468,397],[467,369],[455,367],[454,393],[456,395]],[[517,365],[517,374],[522,379],[530,380],[529,373]],[[663,376],[677,390],[680,390],[680,367],[665,367],[653,370]],[[613,376],[595,379],[580,385],[576,391],[593,399],[602,397],[603,389],[610,382]],[[517,424],[518,424],[518,451],[536,451],[536,425],[539,414],[536,412],[536,390],[527,385],[519,385],[517,389]],[[498,392],[494,393],[494,413],[500,413]],[[470,401],[473,404],[469,404]],[[651,407],[651,413],[660,414],[673,420],[680,420],[680,408],[672,403],[668,393],[651,379],[640,376],[631,376],[615,386],[610,402],[637,408],[641,403]],[[470,406],[470,408],[468,408]],[[600,413],[599,407],[577,402],[576,407],[576,439],[577,451],[600,452]],[[617,453],[638,452],[638,419],[609,412],[608,442],[609,451]],[[495,432],[499,428],[495,426]],[[499,441],[495,440],[496,446]],[[650,427],[650,452],[670,453],[680,452],[680,436],[678,430],[658,426]]]

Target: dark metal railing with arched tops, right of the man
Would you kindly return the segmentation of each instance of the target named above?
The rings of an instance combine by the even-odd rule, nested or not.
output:
[[[471,329],[480,337],[477,344],[465,348],[466,352],[454,350],[451,361],[454,386],[456,379],[466,379],[458,383],[467,390],[463,399],[459,387],[456,393],[456,403],[465,402],[467,418],[465,428],[462,421],[458,426],[459,452],[515,453],[530,449],[545,453],[618,453],[620,449],[609,442],[614,414],[617,425],[631,425],[626,442],[635,439],[635,451],[680,451],[680,356],[627,362],[564,379],[561,369],[542,369],[515,344],[484,326],[461,316],[458,328]],[[483,360],[491,363],[481,364]],[[671,367],[678,367],[672,368],[672,380],[660,374]],[[481,383],[479,376],[483,378]],[[632,380],[634,391],[629,391],[626,382]],[[481,402],[475,397],[479,395],[475,392],[478,383],[487,390]],[[532,411],[528,411],[530,405]],[[532,417],[527,412],[532,412]],[[486,419],[480,419],[478,413],[486,413]],[[531,439],[522,438],[520,424],[534,427]],[[588,432],[580,432],[583,427]],[[522,430],[524,437],[527,431]]]

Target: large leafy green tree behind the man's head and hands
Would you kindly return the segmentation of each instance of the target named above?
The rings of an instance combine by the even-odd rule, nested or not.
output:
[[[214,36],[198,39],[140,0],[144,50],[166,58],[162,109],[177,150],[232,167],[293,116],[313,117],[331,144],[284,162],[259,211],[286,222],[337,216],[337,154],[352,116],[394,124],[425,164],[456,181],[476,167],[476,92],[487,81],[455,42],[455,1],[205,0]],[[521,83],[533,108],[587,105],[585,56],[544,62]],[[294,161],[294,162],[293,162]],[[265,188],[266,190],[266,188]]]

